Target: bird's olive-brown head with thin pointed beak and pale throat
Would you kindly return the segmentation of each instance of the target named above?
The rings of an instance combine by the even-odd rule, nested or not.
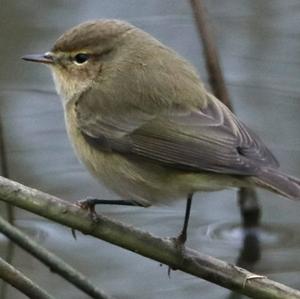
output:
[[[66,31],[49,52],[23,59],[50,66],[58,93],[68,101],[101,76],[103,65],[114,59],[133,28],[118,20],[85,22]]]

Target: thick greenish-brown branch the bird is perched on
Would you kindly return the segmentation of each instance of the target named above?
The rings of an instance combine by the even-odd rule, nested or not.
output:
[[[2,177],[0,199],[249,297],[300,299],[299,291],[283,284],[264,277],[249,279],[254,274],[247,270],[189,248],[179,250],[169,239],[158,238],[102,215],[95,223],[76,205]]]

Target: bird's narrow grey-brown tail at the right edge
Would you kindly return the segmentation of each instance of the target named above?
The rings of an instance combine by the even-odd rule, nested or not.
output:
[[[263,169],[254,180],[262,188],[270,189],[290,199],[300,200],[300,180],[277,169]]]

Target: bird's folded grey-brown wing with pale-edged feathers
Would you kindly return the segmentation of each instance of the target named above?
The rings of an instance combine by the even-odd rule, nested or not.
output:
[[[95,113],[95,105],[100,105],[97,98],[85,95],[77,101],[77,122],[92,146],[169,167],[238,175],[256,174],[264,166],[278,167],[254,133],[215,97],[207,97],[204,108],[174,105],[153,113],[131,107],[128,114],[121,105],[100,117]]]

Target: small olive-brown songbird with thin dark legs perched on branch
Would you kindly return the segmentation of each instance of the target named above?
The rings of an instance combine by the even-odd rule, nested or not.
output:
[[[209,93],[191,64],[150,34],[119,20],[65,32],[50,52],[25,60],[50,66],[67,132],[91,174],[123,201],[150,206],[258,186],[300,199],[300,180],[278,170],[263,142]]]

